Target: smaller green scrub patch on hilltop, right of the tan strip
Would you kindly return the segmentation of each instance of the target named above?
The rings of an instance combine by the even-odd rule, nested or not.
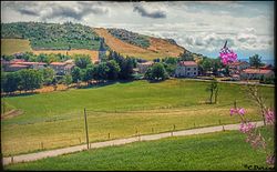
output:
[[[138,33],[134,33],[124,29],[107,29],[107,31],[114,36],[115,38],[134,44],[141,48],[148,48],[150,47],[150,39],[147,36],[142,36]]]

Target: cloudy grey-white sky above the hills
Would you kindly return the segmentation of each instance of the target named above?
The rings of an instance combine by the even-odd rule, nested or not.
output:
[[[1,1],[1,21],[72,21],[172,38],[192,52],[217,57],[225,40],[240,59],[274,59],[274,1],[98,2]]]

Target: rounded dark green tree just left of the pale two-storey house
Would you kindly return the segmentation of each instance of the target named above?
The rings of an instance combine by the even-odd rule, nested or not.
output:
[[[168,78],[168,74],[162,63],[155,63],[147,69],[145,79],[154,81],[163,81]]]

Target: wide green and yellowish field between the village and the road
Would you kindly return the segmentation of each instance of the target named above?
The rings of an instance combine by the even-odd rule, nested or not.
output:
[[[4,156],[76,145],[85,142],[83,109],[88,111],[91,142],[222,123],[237,123],[229,117],[234,100],[246,108],[252,120],[260,120],[257,107],[242,85],[220,83],[217,104],[205,104],[208,82],[167,80],[160,83],[134,81],[105,87],[4,98],[24,113],[1,121]],[[263,87],[268,105],[274,88]],[[43,148],[41,146],[43,144]]]

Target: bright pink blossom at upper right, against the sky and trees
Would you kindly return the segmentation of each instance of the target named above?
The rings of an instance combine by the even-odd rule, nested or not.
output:
[[[232,62],[237,61],[237,54],[232,49],[227,48],[227,41],[225,42],[224,47],[220,49],[219,58],[224,65],[227,65]]]

